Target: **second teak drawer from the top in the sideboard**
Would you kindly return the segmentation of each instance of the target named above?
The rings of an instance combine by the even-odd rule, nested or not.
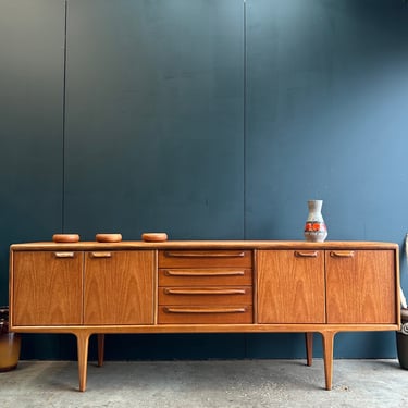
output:
[[[244,268],[160,269],[159,286],[252,285],[252,270]]]

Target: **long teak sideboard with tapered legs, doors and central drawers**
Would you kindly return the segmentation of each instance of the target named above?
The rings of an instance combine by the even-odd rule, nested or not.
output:
[[[178,240],[10,247],[10,329],[72,333],[79,390],[88,343],[107,333],[306,334],[323,341],[332,387],[338,332],[397,331],[398,245],[372,242]]]

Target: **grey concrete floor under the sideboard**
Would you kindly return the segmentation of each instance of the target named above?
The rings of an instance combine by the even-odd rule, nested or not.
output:
[[[333,390],[323,361],[106,362],[88,366],[77,390],[72,361],[21,361],[0,373],[0,407],[406,407],[408,371],[397,360],[335,360]]]

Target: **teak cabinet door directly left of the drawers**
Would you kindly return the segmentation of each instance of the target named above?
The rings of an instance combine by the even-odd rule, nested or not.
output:
[[[85,324],[152,324],[156,252],[85,254]]]

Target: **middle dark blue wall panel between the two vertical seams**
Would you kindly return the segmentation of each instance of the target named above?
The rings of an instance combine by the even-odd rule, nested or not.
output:
[[[69,2],[67,230],[244,236],[243,9]]]

